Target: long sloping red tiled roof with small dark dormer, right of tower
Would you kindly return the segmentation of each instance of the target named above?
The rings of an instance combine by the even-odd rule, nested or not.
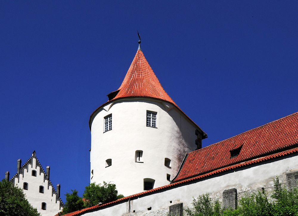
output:
[[[188,153],[172,182],[294,148],[297,144],[298,112]]]

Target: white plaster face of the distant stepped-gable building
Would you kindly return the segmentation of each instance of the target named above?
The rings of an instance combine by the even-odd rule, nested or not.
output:
[[[37,208],[37,211],[42,216],[53,216],[60,212],[60,202],[56,203],[56,194],[52,195],[52,186],[48,188],[48,180],[44,181],[44,173],[40,173],[40,167],[36,168],[36,159],[32,158],[32,165],[28,164],[27,168],[24,168],[23,174],[15,177],[14,185],[23,189],[23,183],[28,183],[28,190],[23,190],[29,203]],[[32,170],[36,171],[36,176],[32,176]],[[44,193],[39,193],[39,186],[44,186]],[[46,203],[46,210],[41,209],[41,203]],[[62,209],[62,208],[61,208]]]

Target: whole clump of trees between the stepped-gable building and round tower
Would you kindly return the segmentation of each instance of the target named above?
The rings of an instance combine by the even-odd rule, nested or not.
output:
[[[95,183],[86,186],[83,193],[83,199],[77,195],[77,193],[77,190],[72,190],[71,194],[65,194],[66,203],[63,211],[60,212],[59,215],[75,212],[97,204],[108,203],[124,197],[122,194],[118,195],[115,184],[107,184],[106,182],[103,182],[102,186]]]

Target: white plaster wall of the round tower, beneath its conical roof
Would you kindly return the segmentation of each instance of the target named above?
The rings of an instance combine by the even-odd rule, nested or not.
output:
[[[157,128],[146,126],[148,111],[157,112]],[[112,114],[112,130],[104,132],[104,117]],[[160,100],[117,100],[94,115],[91,126],[91,182],[115,183],[118,192],[130,195],[143,191],[143,179],[155,179],[154,188],[169,184],[187,152],[195,150],[195,129],[172,104]],[[91,119],[92,120],[92,119]],[[143,162],[135,162],[136,150]],[[164,166],[164,158],[171,168]],[[105,160],[112,165],[105,168]]]

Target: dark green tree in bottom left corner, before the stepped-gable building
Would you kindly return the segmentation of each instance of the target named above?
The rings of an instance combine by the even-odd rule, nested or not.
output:
[[[27,201],[23,190],[3,179],[0,182],[0,216],[40,216]]]

